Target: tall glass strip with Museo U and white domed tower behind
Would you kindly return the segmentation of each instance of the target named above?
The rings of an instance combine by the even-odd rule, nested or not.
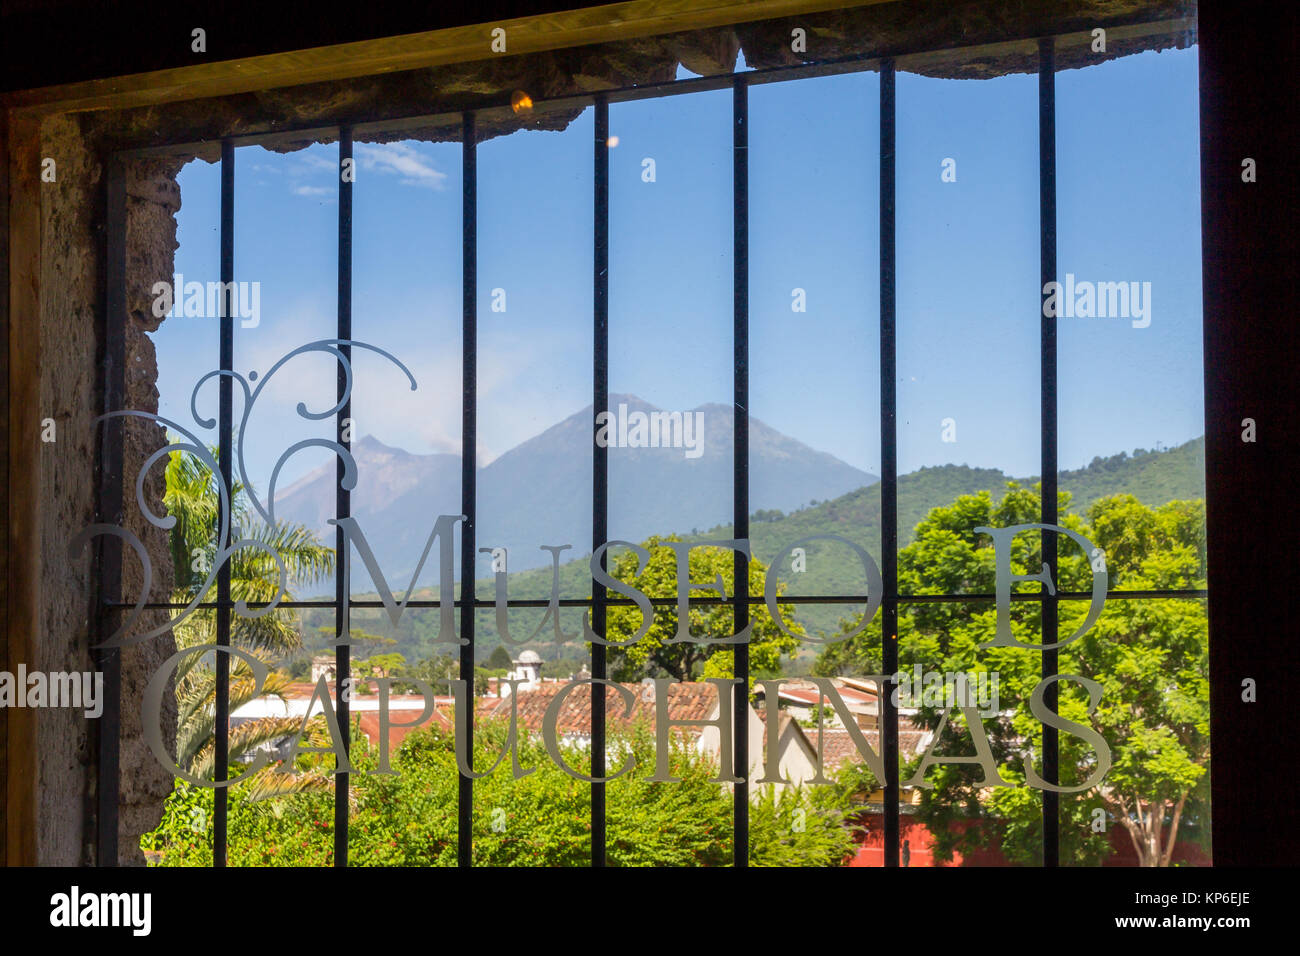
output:
[[[543,545],[568,545],[560,597],[590,593],[593,135],[586,109],[563,131],[523,129],[478,146],[481,601],[495,601],[502,568],[511,601],[547,601],[552,557]],[[494,607],[478,611],[476,769],[497,761],[514,710],[523,766],[534,771],[516,780],[507,758],[474,783],[478,865],[590,862],[590,788],[542,745],[547,706],[588,669],[581,615],[562,609],[556,628],[545,606],[514,607],[502,633]],[[519,682],[514,704],[510,680]],[[585,715],[585,726],[558,727],[566,760],[582,773],[590,705]]]

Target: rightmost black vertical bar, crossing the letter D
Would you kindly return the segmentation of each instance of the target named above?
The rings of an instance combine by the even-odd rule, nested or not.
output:
[[[1039,287],[1056,281],[1056,48],[1048,36],[1039,40]],[[1041,377],[1039,381],[1043,524],[1057,523],[1057,326],[1056,319],[1039,310],[1041,329]],[[1041,532],[1043,561],[1050,579],[1057,579],[1057,536]],[[1043,643],[1057,640],[1057,598],[1043,596]],[[1043,652],[1043,676],[1057,672],[1057,652]],[[1056,713],[1057,684],[1048,684],[1043,695],[1048,710]],[[1043,779],[1058,783],[1060,736],[1056,727],[1043,726]],[[1052,791],[1043,793],[1043,865],[1061,864],[1060,809],[1061,796]]]

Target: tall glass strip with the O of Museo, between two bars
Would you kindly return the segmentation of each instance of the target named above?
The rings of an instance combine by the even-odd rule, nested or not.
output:
[[[864,596],[868,578],[854,546],[879,561],[879,101],[874,73],[749,90],[755,596],[768,580],[784,596]],[[832,693],[879,753],[879,688],[863,678],[880,672],[880,622],[846,637],[864,602],[790,602],[780,605],[783,631],[764,605],[753,607],[750,674],[784,679],[775,691],[772,773],[788,783],[759,783],[772,760],[774,721],[768,688],[755,684],[762,730],[750,735],[750,861],[840,865],[858,852],[859,831],[846,821],[879,819],[879,799],[868,809],[879,782],[831,698],[819,705],[811,678],[833,678]],[[811,784],[819,711],[827,786]]]

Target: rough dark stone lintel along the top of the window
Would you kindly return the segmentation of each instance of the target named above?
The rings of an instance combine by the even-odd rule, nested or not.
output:
[[[1112,38],[1106,53],[1084,46],[1062,48],[1057,69],[1092,65],[1104,59],[1145,49],[1187,47],[1195,31],[1195,0],[900,0],[844,10],[827,10],[783,20],[738,23],[685,34],[647,36],[573,49],[520,56],[494,56],[473,62],[386,73],[326,83],[304,83],[276,90],[194,100],[168,107],[146,107],[100,114],[96,121],[105,142],[139,147],[168,142],[216,140],[226,135],[277,133],[318,124],[370,122],[433,116],[499,104],[515,90],[541,100],[590,94],[636,85],[671,81],[681,64],[699,75],[731,74],[737,53],[754,68],[833,61],[846,56],[905,57],[898,68],[928,77],[987,79],[1008,73],[1037,70],[1032,44],[1006,49],[1009,38],[1035,38],[1089,33],[1097,26],[1135,21],[1167,21],[1166,30],[1145,31],[1132,39]],[[790,30],[807,33],[807,49],[790,49]],[[988,46],[993,44],[993,46]],[[519,129],[564,129],[581,107],[538,108],[528,114],[495,109],[478,117],[478,138],[489,139]],[[358,142],[460,139],[459,124],[416,126],[359,137]],[[269,150],[300,150],[317,137],[289,138]],[[208,159],[216,159],[211,152]]]

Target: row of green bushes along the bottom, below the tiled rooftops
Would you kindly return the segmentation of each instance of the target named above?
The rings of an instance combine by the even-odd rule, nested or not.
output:
[[[394,748],[395,775],[374,775],[376,754],[354,730],[355,804],[348,816],[354,866],[454,866],[456,788],[452,737],[413,731]],[[491,766],[506,741],[502,721],[474,728],[474,766]],[[606,858],[611,866],[725,866],[732,858],[732,793],[712,783],[716,765],[688,744],[675,744],[671,773],[654,783],[654,737],[647,727],[611,731],[610,745],[636,760],[607,793]],[[589,752],[562,745],[566,762],[590,773]],[[474,783],[476,866],[588,866],[592,853],[590,786],[551,761],[537,736],[525,736],[520,760],[534,773],[514,779],[510,761]],[[612,763],[611,763],[612,766]],[[230,865],[328,866],[333,856],[333,795],[307,792],[257,804],[230,801]],[[757,866],[835,866],[852,856],[848,826],[861,808],[861,779],[833,787],[766,787],[750,809],[750,861]],[[211,866],[212,791],[178,783],[157,830],[140,845],[168,866]]]

